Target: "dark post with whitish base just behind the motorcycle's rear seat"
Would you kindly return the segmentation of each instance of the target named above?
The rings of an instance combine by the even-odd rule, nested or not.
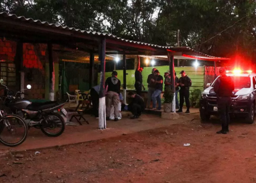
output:
[[[55,75],[54,75],[54,61],[52,57],[52,43],[47,43],[48,48],[48,55],[49,55],[49,73],[50,73],[50,93],[49,93],[49,99],[51,101],[54,101],[54,82],[55,82]]]

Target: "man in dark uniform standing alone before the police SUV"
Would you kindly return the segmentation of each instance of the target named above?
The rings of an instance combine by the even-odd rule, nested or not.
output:
[[[234,81],[227,77],[225,68],[220,68],[220,77],[214,84],[214,92],[217,95],[218,112],[220,113],[221,131],[218,134],[227,134],[230,122],[229,110],[231,106],[232,91],[234,91]]]

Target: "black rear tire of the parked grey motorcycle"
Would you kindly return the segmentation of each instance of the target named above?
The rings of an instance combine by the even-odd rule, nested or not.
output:
[[[56,118],[58,118],[60,121],[58,121],[58,122],[56,122],[56,121],[53,122],[51,119],[49,119],[49,116],[56,117]],[[42,122],[41,131],[42,131],[45,135],[47,135],[47,136],[52,136],[52,137],[56,137],[56,136],[60,136],[60,135],[63,133],[63,131],[65,130],[65,121],[64,121],[63,117],[62,117],[59,113],[49,113],[49,114],[45,115],[45,119],[46,119],[47,122],[49,122],[49,124],[51,125],[51,126],[49,126],[48,128],[45,128],[45,124],[44,124],[45,121]],[[47,131],[47,129],[56,129],[56,127],[58,127],[58,126],[60,126],[60,125],[61,125],[61,129],[60,129],[60,131],[58,131],[57,133],[49,133],[49,132]]]

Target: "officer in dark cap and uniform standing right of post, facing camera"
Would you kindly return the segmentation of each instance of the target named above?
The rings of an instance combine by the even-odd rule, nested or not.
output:
[[[189,113],[189,87],[191,87],[191,79],[186,75],[185,71],[180,72],[181,77],[179,78],[179,87],[180,87],[180,109],[177,112],[182,112],[182,107],[184,104],[184,98],[187,106],[186,113]]]

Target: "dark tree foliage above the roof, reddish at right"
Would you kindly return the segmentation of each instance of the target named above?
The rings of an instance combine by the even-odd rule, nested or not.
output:
[[[256,60],[253,0],[0,0],[0,11],[206,54]]]

